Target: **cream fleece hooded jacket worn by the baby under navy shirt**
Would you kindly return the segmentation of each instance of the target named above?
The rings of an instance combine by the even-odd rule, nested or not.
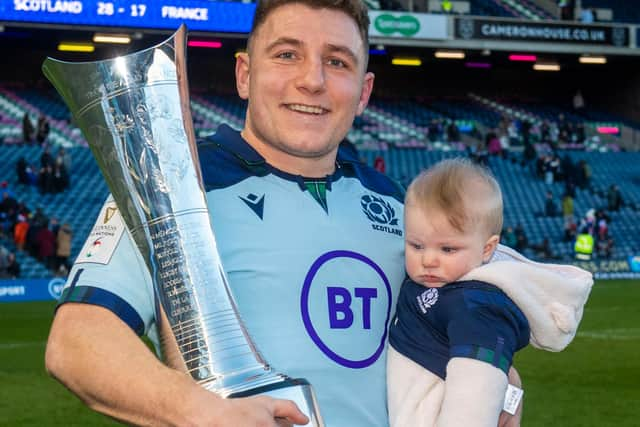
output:
[[[460,280],[482,280],[502,289],[529,321],[530,343],[563,350],[575,337],[593,278],[569,265],[533,262],[499,245],[491,262]],[[456,357],[447,379],[388,349],[387,398],[391,427],[496,427],[507,377],[498,368]]]

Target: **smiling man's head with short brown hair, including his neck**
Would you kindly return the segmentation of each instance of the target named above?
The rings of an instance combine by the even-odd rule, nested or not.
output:
[[[364,43],[346,14],[288,4],[272,11],[236,63],[249,100],[243,137],[290,173],[333,172],[335,153],[369,100]]]

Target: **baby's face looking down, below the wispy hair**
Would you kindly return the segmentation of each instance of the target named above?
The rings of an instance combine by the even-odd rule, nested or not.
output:
[[[439,209],[405,206],[405,266],[421,285],[439,288],[454,282],[491,258],[497,236],[456,230]],[[493,243],[495,242],[495,243]]]

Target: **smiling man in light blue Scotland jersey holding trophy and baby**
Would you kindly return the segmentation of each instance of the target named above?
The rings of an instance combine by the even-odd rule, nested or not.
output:
[[[240,316],[276,371],[312,384],[327,427],[388,425],[386,338],[404,277],[402,191],[338,149],[373,87],[368,26],[361,0],[259,2],[236,62],[244,128],[198,145]],[[307,422],[292,402],[222,399],[158,361],[137,337],[157,345],[149,273],[119,214],[109,221],[100,260],[80,258],[69,276],[52,375],[130,424]]]

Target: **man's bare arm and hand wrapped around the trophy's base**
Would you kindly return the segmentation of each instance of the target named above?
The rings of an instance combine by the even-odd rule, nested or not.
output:
[[[56,314],[47,371],[91,409],[134,425],[268,426],[275,418],[305,424],[287,400],[223,399],[162,364],[117,316],[99,306],[66,303]]]

